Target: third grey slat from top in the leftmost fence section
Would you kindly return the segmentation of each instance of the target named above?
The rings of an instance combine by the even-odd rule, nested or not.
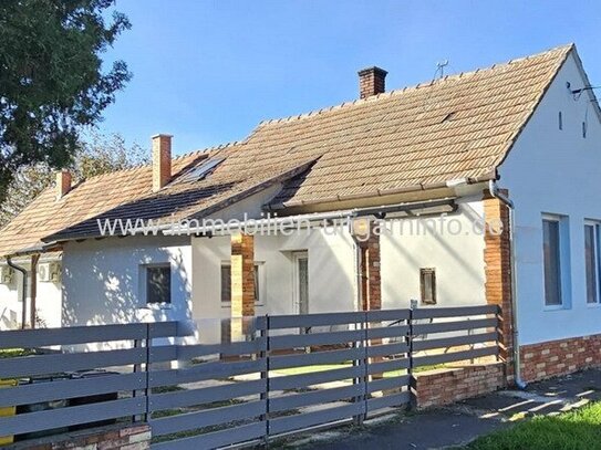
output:
[[[0,408],[68,398],[136,390],[146,387],[146,375],[107,374],[90,378],[58,379],[0,389]],[[0,419],[1,420],[1,419]]]

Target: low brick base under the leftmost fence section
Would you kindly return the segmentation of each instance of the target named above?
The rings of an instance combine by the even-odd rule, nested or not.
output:
[[[145,450],[151,448],[146,423],[110,426],[17,442],[13,450]]]

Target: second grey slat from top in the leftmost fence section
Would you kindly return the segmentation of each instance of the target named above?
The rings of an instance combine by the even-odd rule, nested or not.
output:
[[[0,378],[126,366],[144,362],[145,348],[23,356],[2,359]]]

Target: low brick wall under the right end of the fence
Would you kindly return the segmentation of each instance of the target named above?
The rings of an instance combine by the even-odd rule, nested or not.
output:
[[[501,389],[506,386],[504,366],[495,363],[414,374],[416,407],[449,405]]]

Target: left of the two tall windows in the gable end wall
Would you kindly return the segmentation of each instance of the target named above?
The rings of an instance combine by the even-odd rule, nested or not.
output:
[[[559,306],[561,299],[560,219],[542,219],[542,254],[545,265],[545,304]]]

